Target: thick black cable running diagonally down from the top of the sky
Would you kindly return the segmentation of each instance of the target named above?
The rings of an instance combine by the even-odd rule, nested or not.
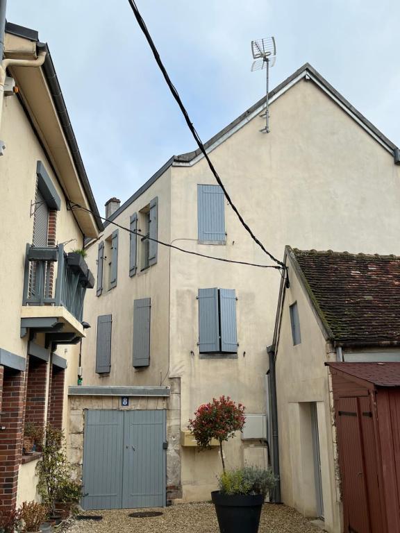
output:
[[[238,208],[236,208],[235,204],[232,202],[231,197],[229,196],[228,192],[226,191],[226,188],[224,187],[224,184],[222,183],[221,178],[219,178],[219,175],[218,175],[213,163],[211,162],[210,158],[208,157],[208,153],[206,152],[206,149],[204,148],[203,142],[201,142],[199,134],[197,133],[196,128],[194,128],[194,126],[192,124],[192,121],[190,120],[190,117],[188,115],[188,111],[185,109],[185,106],[183,105],[183,102],[181,100],[181,97],[178,94],[178,91],[176,90],[176,87],[174,87],[174,84],[172,83],[171,79],[169,78],[167,70],[165,69],[165,67],[163,65],[163,62],[161,61],[160,54],[158,53],[158,50],[156,49],[156,45],[154,44],[153,39],[151,38],[151,35],[149,33],[149,30],[147,29],[147,26],[146,26],[144,20],[142,19],[142,15],[140,15],[140,12],[138,10],[138,6],[136,6],[136,3],[135,3],[134,0],[128,0],[128,2],[129,2],[130,6],[131,6],[131,8],[133,10],[133,13],[135,15],[136,20],[138,21],[140,29],[144,33],[144,37],[146,37],[147,42],[149,43],[151,51],[153,52],[153,56],[156,59],[157,65],[160,68],[160,71],[163,73],[163,76],[165,78],[165,81],[167,82],[169,90],[172,92],[172,96],[174,96],[174,99],[178,103],[179,108],[181,108],[181,112],[183,114],[183,117],[185,117],[186,124],[188,124],[188,128],[190,129],[190,131],[191,131],[191,133],[192,133],[192,135],[194,137],[194,140],[197,142],[197,146],[199,146],[199,149],[201,150],[201,153],[203,153],[204,158],[206,158],[206,161],[208,162],[208,167],[210,167],[210,170],[213,173],[215,179],[217,180],[217,183],[218,183],[219,187],[221,187],[221,189],[223,190],[226,200],[231,205],[231,208],[233,209],[233,211],[238,215],[238,219],[242,223],[242,226],[244,227],[245,230],[247,230],[247,232],[249,233],[249,235],[251,236],[253,241],[255,241],[258,244],[258,246],[260,246],[260,248],[269,256],[270,259],[272,259],[274,262],[279,264],[281,266],[281,268],[285,270],[286,269],[286,265],[283,262],[281,262],[278,259],[276,259],[276,257],[274,257],[274,255],[272,255],[272,253],[269,253],[269,251],[267,251],[267,249],[265,248],[263,243],[260,242],[260,240],[256,237],[256,235],[254,235],[254,233],[251,231],[251,228],[249,228],[247,223],[244,221],[242,215],[238,211]]]

